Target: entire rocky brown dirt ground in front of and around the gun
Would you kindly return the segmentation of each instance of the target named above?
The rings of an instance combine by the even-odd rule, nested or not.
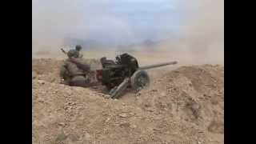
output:
[[[50,82],[61,61],[40,61],[32,71],[33,143],[223,143],[222,66],[182,66],[113,100]]]

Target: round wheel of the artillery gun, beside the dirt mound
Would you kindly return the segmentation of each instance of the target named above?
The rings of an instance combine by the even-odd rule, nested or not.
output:
[[[131,77],[131,87],[135,91],[150,85],[150,77],[145,70],[136,71]]]

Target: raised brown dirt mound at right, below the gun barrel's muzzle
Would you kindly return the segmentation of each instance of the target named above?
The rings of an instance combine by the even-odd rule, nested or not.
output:
[[[142,90],[138,106],[223,134],[223,83],[222,66],[182,66]]]

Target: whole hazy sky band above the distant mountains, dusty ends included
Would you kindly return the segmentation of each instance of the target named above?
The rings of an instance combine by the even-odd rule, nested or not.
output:
[[[32,0],[33,47],[63,38],[116,45],[185,39],[187,47],[223,46],[224,0]],[[214,44],[215,45],[215,44]]]

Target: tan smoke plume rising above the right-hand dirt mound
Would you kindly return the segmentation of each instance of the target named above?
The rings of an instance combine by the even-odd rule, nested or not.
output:
[[[184,10],[182,34],[190,51],[201,54],[202,61],[224,64],[224,0],[189,1]]]

